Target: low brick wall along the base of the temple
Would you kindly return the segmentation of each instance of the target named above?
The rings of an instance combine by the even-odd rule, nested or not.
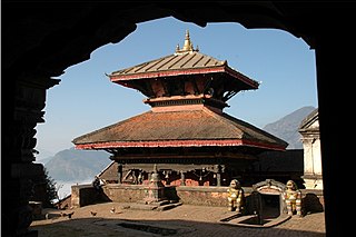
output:
[[[72,186],[71,205],[82,207],[101,201],[137,203],[144,200],[147,195],[145,185],[117,185],[109,184],[96,190],[91,185]],[[243,187],[245,196],[251,194],[251,187]],[[188,187],[166,186],[165,196],[170,200],[179,200],[187,205],[227,206],[228,187]],[[303,208],[305,213],[324,211],[324,196],[322,190],[300,189],[303,195]]]

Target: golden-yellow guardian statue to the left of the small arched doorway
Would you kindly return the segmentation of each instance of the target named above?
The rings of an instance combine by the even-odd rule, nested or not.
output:
[[[244,208],[245,194],[237,179],[230,181],[230,186],[227,189],[228,210],[241,213]]]

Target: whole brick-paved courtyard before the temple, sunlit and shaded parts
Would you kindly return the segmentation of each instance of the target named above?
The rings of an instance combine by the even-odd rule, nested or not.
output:
[[[115,209],[115,210],[113,210]],[[113,211],[112,211],[113,210]],[[138,210],[130,204],[106,203],[72,210],[71,218],[60,210],[43,210],[48,219],[36,220],[31,229],[39,237],[61,236],[325,236],[324,213],[293,216],[285,223],[269,227],[241,227],[224,225],[219,220],[228,215],[226,207],[181,205],[168,210]]]

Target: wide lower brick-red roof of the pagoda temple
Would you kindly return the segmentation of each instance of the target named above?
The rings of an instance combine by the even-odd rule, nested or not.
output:
[[[207,108],[148,111],[80,136],[72,142],[79,149],[251,146],[284,150],[288,146],[253,125]]]

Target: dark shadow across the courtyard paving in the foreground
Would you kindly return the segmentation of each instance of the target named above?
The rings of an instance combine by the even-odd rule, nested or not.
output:
[[[34,224],[31,229],[38,230],[39,237],[61,236],[313,236],[322,237],[325,233],[295,230],[284,227],[248,228],[227,226],[218,223],[195,220],[138,220],[121,218],[58,218]]]

